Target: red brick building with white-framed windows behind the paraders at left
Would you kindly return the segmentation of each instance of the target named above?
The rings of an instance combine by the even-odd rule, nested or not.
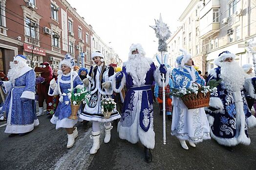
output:
[[[57,68],[67,52],[78,65],[85,52],[88,68],[93,32],[66,0],[0,0],[0,71],[7,73],[17,54],[32,67],[47,61]]]

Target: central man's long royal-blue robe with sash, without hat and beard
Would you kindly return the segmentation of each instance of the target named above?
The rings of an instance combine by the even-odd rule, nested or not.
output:
[[[149,69],[143,75],[143,79],[139,79],[134,69],[127,70],[124,66],[120,86],[115,87],[115,92],[120,92],[124,85],[128,89],[122,110],[122,118],[118,123],[118,133],[121,139],[126,139],[131,143],[141,143],[149,149],[153,149],[155,145],[155,133],[153,131],[153,95],[151,85],[153,81],[161,82],[161,74],[159,69],[156,70],[151,59],[149,61]],[[117,73],[117,76],[120,73]],[[169,75],[169,73],[167,73]],[[168,76],[167,76],[168,77]],[[166,80],[169,83],[169,78]],[[115,86],[116,80],[113,81]]]

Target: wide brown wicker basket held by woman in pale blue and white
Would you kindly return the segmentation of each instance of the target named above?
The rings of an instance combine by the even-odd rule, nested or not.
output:
[[[208,107],[210,102],[210,92],[206,95],[204,93],[189,94],[181,98],[188,109],[197,109],[201,107]]]

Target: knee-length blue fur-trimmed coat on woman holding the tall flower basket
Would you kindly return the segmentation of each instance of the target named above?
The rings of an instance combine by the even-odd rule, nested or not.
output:
[[[56,129],[59,128],[72,128],[78,121],[78,119],[69,119],[68,117],[71,115],[71,103],[70,99],[68,99],[68,89],[70,89],[70,74],[68,75],[59,75],[57,79],[57,85],[54,89],[49,88],[48,95],[54,96],[59,95],[58,86],[60,86],[60,90],[62,95],[60,95],[60,102],[57,106],[57,109],[51,119],[51,123],[56,124]],[[77,72],[73,72],[73,88],[77,85],[83,85],[80,77]],[[65,103],[66,102],[66,103]],[[68,102],[68,103],[67,103]]]

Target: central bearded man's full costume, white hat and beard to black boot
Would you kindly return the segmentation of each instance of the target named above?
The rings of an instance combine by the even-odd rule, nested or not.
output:
[[[134,51],[138,53],[132,54]],[[146,161],[152,160],[150,149],[155,146],[155,133],[153,131],[153,95],[151,85],[155,81],[162,86],[161,72],[166,75],[169,83],[167,68],[161,65],[156,69],[151,58],[145,57],[140,44],[130,47],[128,61],[123,69],[116,73],[113,79],[114,90],[120,93],[126,85],[127,93],[123,104],[122,118],[118,123],[118,133],[121,139],[131,143],[141,143],[145,146]],[[118,84],[116,86],[116,84]]]

